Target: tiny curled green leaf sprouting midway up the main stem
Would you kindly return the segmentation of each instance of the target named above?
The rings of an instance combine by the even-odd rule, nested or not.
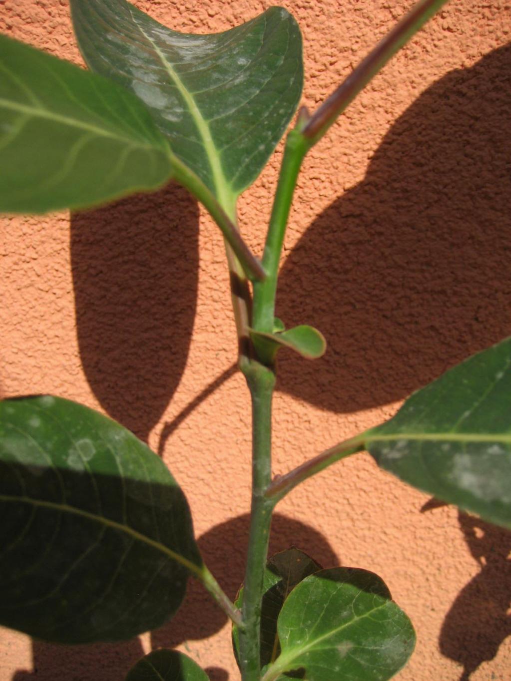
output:
[[[278,320],[280,321],[280,320]],[[307,360],[317,360],[326,351],[326,340],[323,334],[313,326],[305,324],[294,326],[288,331],[267,334],[260,331],[250,330],[250,337],[255,347],[260,346],[264,356],[275,360],[275,355],[281,347],[294,350]]]

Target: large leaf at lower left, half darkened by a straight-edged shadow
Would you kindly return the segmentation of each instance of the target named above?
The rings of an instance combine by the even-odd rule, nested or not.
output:
[[[0,622],[61,643],[166,622],[202,560],[164,463],[107,417],[51,396],[0,402]]]

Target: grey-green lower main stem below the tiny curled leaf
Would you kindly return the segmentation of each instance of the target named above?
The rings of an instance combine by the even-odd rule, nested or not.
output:
[[[243,681],[259,681],[263,577],[275,502],[265,496],[271,481],[271,407],[275,374],[252,360],[245,370],[252,399],[252,502],[247,568],[243,582],[240,666]]]

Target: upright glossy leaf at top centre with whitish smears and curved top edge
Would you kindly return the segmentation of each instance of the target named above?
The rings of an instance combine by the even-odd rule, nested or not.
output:
[[[89,67],[144,100],[174,154],[230,211],[300,98],[302,43],[292,16],[271,7],[230,31],[192,35],[125,0],[71,0],[71,7]]]

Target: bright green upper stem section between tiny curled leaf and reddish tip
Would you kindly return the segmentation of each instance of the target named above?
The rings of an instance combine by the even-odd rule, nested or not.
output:
[[[273,332],[275,295],[285,227],[288,223],[298,173],[308,148],[302,133],[298,129],[291,130],[285,140],[279,183],[273,202],[266,244],[264,244],[262,266],[266,272],[266,278],[253,285],[252,328],[255,331]]]

